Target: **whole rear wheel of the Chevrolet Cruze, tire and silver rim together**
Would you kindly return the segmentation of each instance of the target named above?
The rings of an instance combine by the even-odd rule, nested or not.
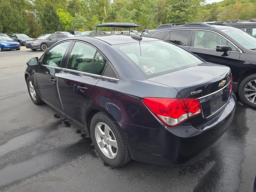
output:
[[[109,130],[108,133],[105,130]],[[92,117],[90,134],[96,151],[106,164],[121,167],[131,160],[118,124],[114,123],[105,113],[99,112]],[[103,147],[100,148],[100,146]]]

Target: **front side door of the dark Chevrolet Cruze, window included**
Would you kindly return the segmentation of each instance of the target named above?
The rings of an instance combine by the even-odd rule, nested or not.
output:
[[[61,72],[69,44],[70,41],[65,41],[49,49],[40,58],[36,69],[37,87],[42,99],[60,111],[63,111],[63,107],[58,94],[58,79],[56,77]]]

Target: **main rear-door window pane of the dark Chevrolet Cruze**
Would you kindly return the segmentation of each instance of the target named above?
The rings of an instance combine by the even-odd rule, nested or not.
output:
[[[96,49],[86,43],[76,42],[68,59],[68,69],[90,72]]]

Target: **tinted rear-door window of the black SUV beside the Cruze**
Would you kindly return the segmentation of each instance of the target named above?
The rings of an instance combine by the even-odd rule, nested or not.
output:
[[[172,31],[170,35],[170,42],[176,45],[187,46],[190,33],[191,30]]]

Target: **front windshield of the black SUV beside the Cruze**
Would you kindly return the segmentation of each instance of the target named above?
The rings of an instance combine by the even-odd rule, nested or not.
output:
[[[238,28],[221,29],[224,33],[236,40],[240,45],[247,49],[256,48],[256,38]]]

